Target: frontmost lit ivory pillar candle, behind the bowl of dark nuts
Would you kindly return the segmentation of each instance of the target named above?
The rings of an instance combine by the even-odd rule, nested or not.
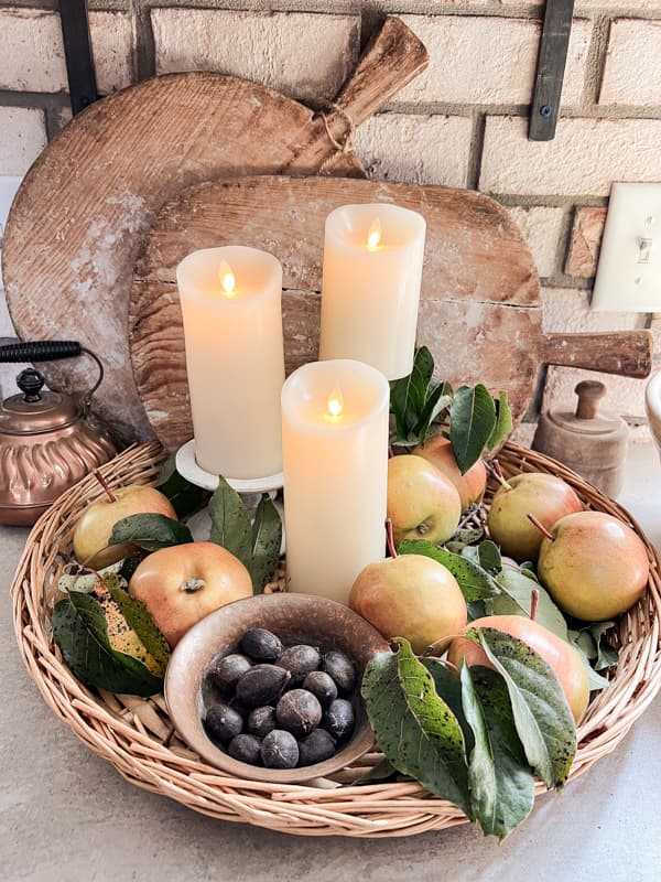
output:
[[[346,603],[386,549],[389,386],[354,361],[313,362],[282,388],[290,591]]]

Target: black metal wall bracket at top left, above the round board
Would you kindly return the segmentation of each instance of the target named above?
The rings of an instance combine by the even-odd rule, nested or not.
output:
[[[59,0],[64,56],[74,116],[98,98],[87,0]]]

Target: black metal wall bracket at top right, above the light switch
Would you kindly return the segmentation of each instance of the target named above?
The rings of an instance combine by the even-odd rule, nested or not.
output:
[[[560,115],[574,0],[546,0],[528,138],[552,141]]]

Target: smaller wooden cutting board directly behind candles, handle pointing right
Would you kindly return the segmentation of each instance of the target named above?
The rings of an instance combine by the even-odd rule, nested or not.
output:
[[[283,266],[288,372],[316,358],[324,222],[348,203],[420,212],[427,235],[419,343],[453,383],[507,389],[517,419],[540,365],[644,376],[649,332],[545,335],[532,256],[507,211],[465,190],[350,179],[245,178],[192,187],[164,206],[137,262],[129,345],[138,390],[158,438],[175,450],[193,434],[175,268],[196,248],[241,243]],[[240,378],[238,378],[240,380]]]

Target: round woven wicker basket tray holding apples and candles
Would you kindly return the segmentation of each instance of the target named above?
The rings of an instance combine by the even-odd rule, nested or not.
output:
[[[102,472],[110,485],[149,483],[161,460],[159,445],[145,444],[124,452]],[[508,476],[530,471],[560,475],[575,488],[586,507],[608,512],[640,534],[620,506],[553,460],[514,444],[507,444],[499,460]],[[199,760],[177,739],[162,697],[143,700],[83,686],[53,645],[50,616],[64,564],[62,555],[71,550],[80,512],[98,495],[97,482],[85,478],[42,516],[30,535],[12,585],[14,627],[30,676],[48,707],[83,742],[139,787],[223,820],[305,836],[354,837],[411,836],[467,821],[451,803],[434,798],[410,779],[351,786],[366,766],[381,759],[378,753],[343,770],[332,782],[316,781],[306,786],[230,778]],[[651,562],[648,591],[621,616],[616,635],[621,648],[613,685],[597,695],[578,729],[579,745],[571,778],[617,746],[661,685],[661,578],[657,555],[644,541]],[[540,785],[538,793],[542,789]]]

